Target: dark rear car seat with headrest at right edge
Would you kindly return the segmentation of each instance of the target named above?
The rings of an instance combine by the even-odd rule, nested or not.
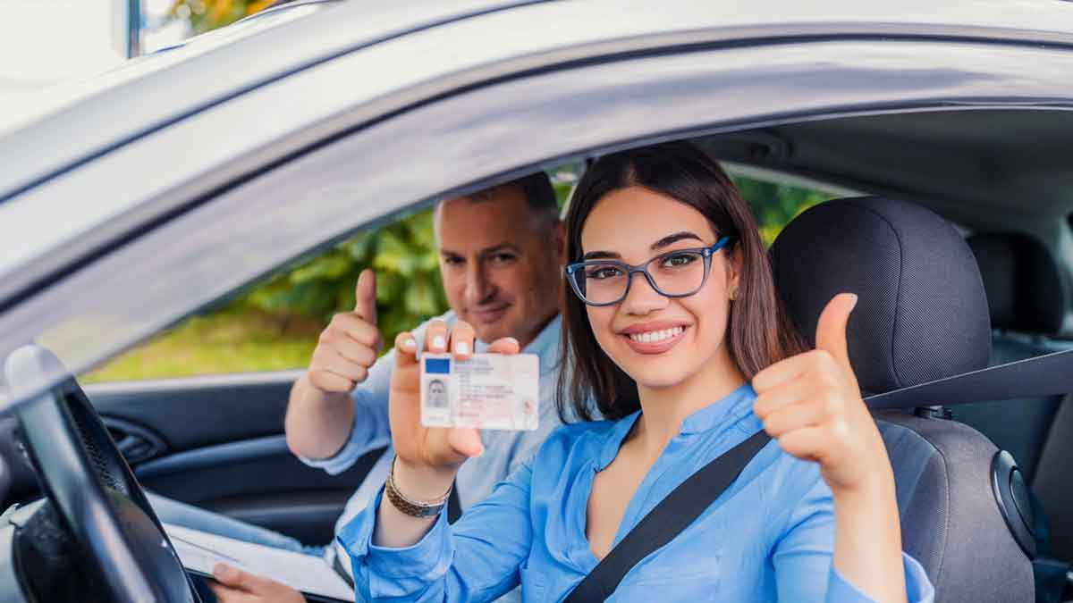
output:
[[[969,237],[990,309],[991,366],[1073,348],[1053,339],[1069,308],[1054,256],[1035,238],[1020,233]],[[971,425],[1010,451],[1025,473],[1037,519],[1041,554],[1073,560],[1073,420],[1062,396],[1020,398],[953,407],[956,421]],[[1046,500],[1046,502],[1044,502]],[[1050,513],[1046,513],[1050,511]]]

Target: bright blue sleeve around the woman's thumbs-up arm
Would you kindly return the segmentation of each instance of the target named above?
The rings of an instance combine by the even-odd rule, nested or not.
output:
[[[873,599],[838,573],[834,551],[834,500],[818,475],[812,488],[790,512],[787,528],[775,546],[773,563],[779,601],[872,603]],[[932,603],[935,588],[924,568],[905,553],[901,557],[909,603]],[[817,579],[823,575],[827,579]]]

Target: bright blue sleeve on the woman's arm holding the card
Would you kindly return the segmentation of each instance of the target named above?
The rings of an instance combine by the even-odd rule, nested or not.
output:
[[[428,533],[403,548],[372,544],[381,489],[337,536],[350,554],[357,600],[482,602],[514,588],[532,544],[531,481],[525,464],[454,526],[444,508]]]

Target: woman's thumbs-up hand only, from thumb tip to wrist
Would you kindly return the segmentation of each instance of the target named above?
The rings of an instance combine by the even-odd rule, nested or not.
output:
[[[788,454],[819,462],[836,495],[891,473],[846,344],[846,325],[856,300],[849,293],[833,297],[815,327],[815,350],[776,363],[752,380],[753,412],[764,430]]]

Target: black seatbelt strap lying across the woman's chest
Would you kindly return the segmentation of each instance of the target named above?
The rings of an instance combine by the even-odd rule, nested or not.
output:
[[[611,597],[638,561],[674,540],[704,513],[770,439],[765,431],[758,431],[690,475],[611,549],[564,603],[588,603]]]

